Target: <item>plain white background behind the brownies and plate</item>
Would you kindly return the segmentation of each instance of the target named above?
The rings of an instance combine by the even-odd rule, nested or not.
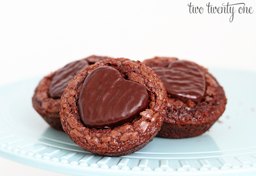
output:
[[[190,14],[187,4],[202,6]],[[143,61],[175,56],[204,67],[256,71],[256,1],[252,14],[208,14],[224,0],[0,1],[0,85],[43,76],[92,54]],[[13,169],[15,168],[15,169]],[[0,173],[46,175],[0,158]],[[56,176],[63,174],[56,174]]]

